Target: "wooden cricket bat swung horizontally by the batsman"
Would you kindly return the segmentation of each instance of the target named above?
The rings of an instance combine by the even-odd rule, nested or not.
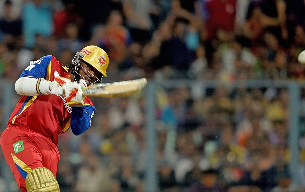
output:
[[[112,83],[92,84],[83,90],[83,93],[94,97],[127,97],[145,87],[147,84],[146,78],[118,81]]]

